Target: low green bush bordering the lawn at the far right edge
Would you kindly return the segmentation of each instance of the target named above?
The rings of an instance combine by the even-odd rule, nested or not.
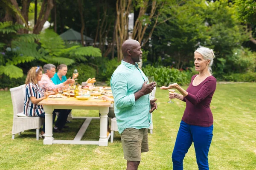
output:
[[[234,73],[228,76],[223,76],[225,81],[233,81],[233,82],[256,82],[256,73],[248,72],[248,73]]]

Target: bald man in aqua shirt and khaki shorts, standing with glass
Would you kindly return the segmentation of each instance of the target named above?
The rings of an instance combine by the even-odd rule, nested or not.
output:
[[[150,113],[157,109],[156,99],[150,100],[148,96],[157,84],[148,84],[147,77],[136,63],[142,60],[142,53],[138,41],[123,42],[124,59],[111,77],[116,122],[127,170],[137,170],[141,153],[148,152]]]

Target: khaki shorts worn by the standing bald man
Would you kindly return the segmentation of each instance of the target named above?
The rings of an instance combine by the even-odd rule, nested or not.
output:
[[[124,159],[140,161],[141,153],[148,152],[148,129],[127,128],[121,134]]]

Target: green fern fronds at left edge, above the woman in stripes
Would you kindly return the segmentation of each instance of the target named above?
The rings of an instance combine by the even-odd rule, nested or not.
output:
[[[0,75],[5,74],[10,78],[23,77],[23,70],[17,67],[20,63],[31,62],[36,59],[36,50],[31,51],[31,46],[36,49],[35,34],[17,34],[17,30],[25,28],[12,22],[0,23]],[[26,52],[29,51],[29,52]]]

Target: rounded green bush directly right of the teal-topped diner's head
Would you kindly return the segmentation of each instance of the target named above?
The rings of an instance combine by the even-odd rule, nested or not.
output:
[[[95,77],[96,80],[98,81],[96,77],[96,70],[86,64],[79,64],[79,65],[73,65],[72,67],[68,67],[68,71],[66,75],[67,78],[69,77],[72,78],[74,69],[77,69],[77,71],[79,72],[79,76],[77,78],[79,84],[81,84],[82,82],[86,82],[88,78],[93,78],[93,77]]]

